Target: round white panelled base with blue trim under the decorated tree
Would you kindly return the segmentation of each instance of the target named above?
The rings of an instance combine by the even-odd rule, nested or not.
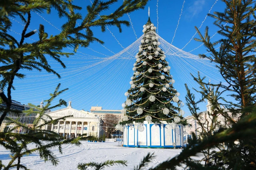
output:
[[[144,121],[144,130],[134,125],[124,126],[123,146],[144,148],[181,148],[184,147],[183,126],[177,124],[173,129],[168,123],[155,124]]]

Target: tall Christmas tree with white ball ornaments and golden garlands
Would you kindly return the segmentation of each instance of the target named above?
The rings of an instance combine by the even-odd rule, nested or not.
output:
[[[149,18],[143,26],[144,37],[135,56],[131,88],[125,93],[127,99],[122,104],[124,116],[121,125],[135,122],[134,127],[139,128],[143,121],[166,121],[175,128],[175,123],[183,121],[184,111],[180,107],[184,103],[173,87],[175,80],[170,74],[171,67],[165,60],[165,52],[159,46],[161,43],[155,30]],[[117,125],[117,129],[121,125]]]

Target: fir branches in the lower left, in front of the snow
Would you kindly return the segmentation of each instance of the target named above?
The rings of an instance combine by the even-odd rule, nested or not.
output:
[[[67,90],[59,90],[59,88],[60,84],[58,84],[54,93],[50,94],[50,99],[46,100],[47,103],[45,107],[40,108],[39,106],[29,104],[30,109],[24,111],[24,113],[27,113],[27,115],[30,115],[31,113],[37,114],[37,117],[34,120],[32,126],[28,126],[27,124],[23,124],[12,118],[6,118],[7,120],[9,120],[9,124],[14,123],[16,125],[14,129],[21,127],[26,128],[28,133],[19,134],[13,132],[0,132],[0,144],[11,152],[11,160],[7,165],[3,165],[2,162],[0,162],[0,167],[2,167],[2,169],[7,170],[14,167],[17,167],[17,169],[28,169],[26,166],[22,165],[20,160],[21,157],[32,153],[38,153],[42,160],[51,161],[53,165],[57,165],[57,157],[53,154],[51,149],[57,147],[59,148],[59,152],[62,153],[63,144],[75,144],[77,146],[80,145],[79,140],[83,139],[83,137],[63,140],[63,138],[59,136],[59,134],[53,131],[44,130],[45,125],[52,123],[56,124],[59,120],[63,120],[66,117],[70,117],[65,116],[53,120],[47,114],[47,110],[49,109],[55,109],[57,107],[67,105],[67,103],[64,100],[60,99],[57,105],[51,106],[51,102],[61,93]],[[43,123],[40,124],[40,122]],[[27,147],[28,144],[31,143],[35,144],[34,148]],[[18,163],[16,163],[16,160],[18,160]]]

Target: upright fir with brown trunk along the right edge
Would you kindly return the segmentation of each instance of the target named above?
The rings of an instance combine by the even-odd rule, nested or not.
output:
[[[222,84],[221,88],[229,91],[229,96],[234,99],[226,101],[230,104],[227,108],[235,117],[242,119],[250,114],[242,112],[243,108],[256,106],[256,1],[222,1],[226,5],[224,12],[214,12],[210,16],[215,19],[214,25],[220,28],[218,34],[223,38],[211,42],[209,27],[206,27],[204,35],[196,28],[199,38],[195,40],[202,42],[209,52],[199,56],[214,62],[227,84]],[[216,48],[217,45],[220,48]],[[233,125],[236,121],[228,119],[227,123]],[[256,168],[255,141],[255,136],[251,136],[251,139],[239,140],[237,146],[227,143],[227,150],[214,153],[211,157],[226,169]]]

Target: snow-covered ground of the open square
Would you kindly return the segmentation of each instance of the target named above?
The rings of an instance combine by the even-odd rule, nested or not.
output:
[[[26,165],[29,169],[77,169],[78,163],[103,162],[106,160],[127,160],[127,167],[120,167],[114,165],[105,169],[133,169],[137,166],[141,159],[147,155],[148,152],[154,152],[155,158],[147,167],[152,167],[158,163],[174,157],[181,149],[162,149],[162,148],[130,148],[117,146],[117,142],[87,142],[81,141],[81,146],[64,145],[63,154],[58,152],[58,148],[52,151],[57,155],[59,164],[57,167],[53,166],[50,161],[46,163],[40,159],[37,153],[31,154],[21,158],[21,163]],[[2,146],[0,147],[0,159],[3,164],[7,164],[10,160],[9,151],[6,151]],[[183,169],[183,168],[181,168]]]

